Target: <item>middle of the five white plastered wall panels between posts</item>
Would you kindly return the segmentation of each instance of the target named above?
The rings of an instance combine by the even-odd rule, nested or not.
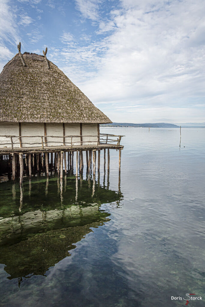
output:
[[[46,134],[50,136],[63,136],[62,123],[46,122]],[[48,146],[63,146],[63,138],[47,137]]]

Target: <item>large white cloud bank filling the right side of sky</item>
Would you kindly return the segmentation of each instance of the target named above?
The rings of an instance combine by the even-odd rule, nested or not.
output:
[[[205,114],[194,105],[202,103],[205,95],[205,2],[126,0],[122,5],[111,12],[107,23],[99,21],[97,33],[115,25],[106,48],[92,43],[84,50],[63,53],[69,60],[86,61],[95,71],[92,78],[76,80],[77,85],[98,106],[113,102],[114,121],[132,116],[126,108],[121,115],[116,104],[144,105],[134,113],[150,120],[157,112],[161,118],[186,115],[203,121]],[[138,121],[137,117],[134,122]]]

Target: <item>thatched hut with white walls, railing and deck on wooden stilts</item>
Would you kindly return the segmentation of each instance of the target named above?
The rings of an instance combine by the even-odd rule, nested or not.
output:
[[[110,119],[55,64],[47,60],[47,48],[43,56],[28,52],[22,54],[20,43],[18,50],[0,74],[0,154],[9,160],[12,155],[13,179],[18,167],[17,155],[22,183],[23,154],[28,156],[31,176],[32,161],[39,170],[41,158],[48,175],[48,153],[52,154],[52,163],[54,153],[54,167],[61,171],[61,177],[63,160],[66,171],[67,162],[72,163],[73,152],[80,153],[80,172],[83,151],[86,151],[88,166],[92,156],[95,166],[96,150],[99,155],[100,150],[103,149],[105,154],[107,149],[108,157],[109,149],[117,149],[120,154],[123,149],[121,136],[100,134],[99,125],[110,123]]]

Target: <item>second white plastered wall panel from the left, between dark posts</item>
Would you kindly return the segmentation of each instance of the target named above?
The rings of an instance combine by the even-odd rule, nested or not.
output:
[[[42,122],[22,122],[21,123],[22,147],[41,147],[41,135],[44,135],[44,126]],[[23,136],[39,137],[25,138]],[[44,139],[43,139],[44,141]]]

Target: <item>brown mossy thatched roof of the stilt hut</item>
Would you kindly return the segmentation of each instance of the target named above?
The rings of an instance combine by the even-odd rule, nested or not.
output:
[[[0,74],[1,122],[111,123],[51,61],[16,54]]]

